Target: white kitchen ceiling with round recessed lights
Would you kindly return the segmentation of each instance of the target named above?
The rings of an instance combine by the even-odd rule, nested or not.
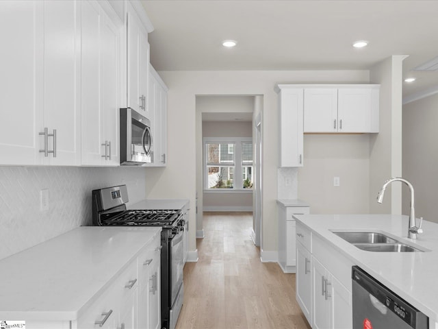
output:
[[[407,55],[403,96],[438,87],[438,0],[142,0],[157,71],[370,69]],[[237,40],[233,49],[222,40]],[[368,40],[355,49],[352,42]]]

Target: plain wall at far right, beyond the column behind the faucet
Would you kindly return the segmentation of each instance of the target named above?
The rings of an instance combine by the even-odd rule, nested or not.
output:
[[[438,223],[438,94],[403,106],[403,177],[415,188],[415,215]],[[403,190],[409,215],[409,191]]]

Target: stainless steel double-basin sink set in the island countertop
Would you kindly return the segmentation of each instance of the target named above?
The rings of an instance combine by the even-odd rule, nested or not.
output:
[[[423,252],[381,232],[332,232],[367,252]]]

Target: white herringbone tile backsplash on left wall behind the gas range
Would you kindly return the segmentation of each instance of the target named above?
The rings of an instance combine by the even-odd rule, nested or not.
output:
[[[146,199],[142,167],[0,167],[0,259],[91,225],[91,191],[126,184],[129,202]],[[40,191],[49,210],[40,211]]]

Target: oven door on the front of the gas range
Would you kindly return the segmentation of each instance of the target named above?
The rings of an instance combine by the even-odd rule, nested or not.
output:
[[[184,258],[184,248],[183,248],[183,233],[181,230],[177,235],[173,237],[170,241],[170,287],[172,289],[172,294],[170,295],[170,304],[173,306],[175,299],[177,298],[179,287],[183,283],[183,258]]]

